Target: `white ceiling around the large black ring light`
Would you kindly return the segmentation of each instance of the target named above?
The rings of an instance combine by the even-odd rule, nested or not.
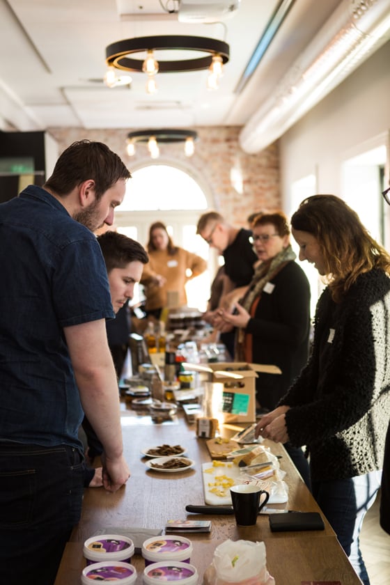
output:
[[[163,9],[178,8],[178,0],[0,0],[3,129],[244,126],[346,1],[354,2],[241,0],[221,22],[188,24]],[[125,18],[118,10],[123,6],[130,13]],[[236,91],[272,14],[287,6],[288,15],[253,77]],[[205,71],[159,74],[154,95],[146,93],[146,75],[138,72],[131,74],[130,88],[104,86],[107,45],[123,38],[167,34],[228,42],[231,59],[217,91],[206,88]],[[160,58],[174,59],[172,53]]]

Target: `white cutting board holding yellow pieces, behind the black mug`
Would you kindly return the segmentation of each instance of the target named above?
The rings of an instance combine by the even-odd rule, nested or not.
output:
[[[221,488],[224,492],[223,495],[217,495],[210,490],[212,490],[213,487],[217,487],[217,489],[220,488],[220,486],[213,485],[217,482],[218,476],[226,476],[226,478],[231,478],[234,482],[233,485],[237,485],[238,483],[243,483],[242,474],[240,474],[240,467],[232,462],[218,461],[218,464],[219,465],[217,465],[217,467],[214,467],[212,462],[202,464],[205,504],[209,504],[210,506],[229,506],[232,503],[229,487]],[[206,470],[210,471],[206,472]],[[288,501],[287,491],[283,489],[284,482],[276,482],[265,479],[262,481],[262,484],[264,484],[262,485],[262,488],[270,492],[270,499],[268,500],[268,504],[284,504],[284,502]],[[278,489],[272,490],[272,485],[278,487]]]

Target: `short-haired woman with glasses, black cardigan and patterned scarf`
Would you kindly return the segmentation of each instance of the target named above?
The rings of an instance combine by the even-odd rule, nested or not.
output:
[[[274,364],[280,375],[256,378],[258,412],[273,410],[299,375],[309,355],[310,287],[290,245],[290,229],[281,211],[253,220],[253,248],[260,264],[235,313],[219,310],[217,327],[237,327],[235,361]],[[286,445],[310,487],[309,466],[301,448]]]

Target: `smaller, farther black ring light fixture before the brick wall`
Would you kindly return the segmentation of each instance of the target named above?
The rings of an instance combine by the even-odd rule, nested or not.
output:
[[[127,134],[127,154],[131,157],[135,154],[137,142],[148,144],[150,157],[159,157],[159,143],[184,142],[184,151],[187,157],[194,154],[194,143],[198,139],[198,133],[194,130],[159,129],[159,130],[134,130]]]

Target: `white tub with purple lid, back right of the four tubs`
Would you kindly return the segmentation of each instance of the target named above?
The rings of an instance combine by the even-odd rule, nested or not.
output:
[[[148,538],[142,545],[145,566],[159,561],[181,561],[189,563],[192,555],[192,542],[184,536],[165,534]]]

